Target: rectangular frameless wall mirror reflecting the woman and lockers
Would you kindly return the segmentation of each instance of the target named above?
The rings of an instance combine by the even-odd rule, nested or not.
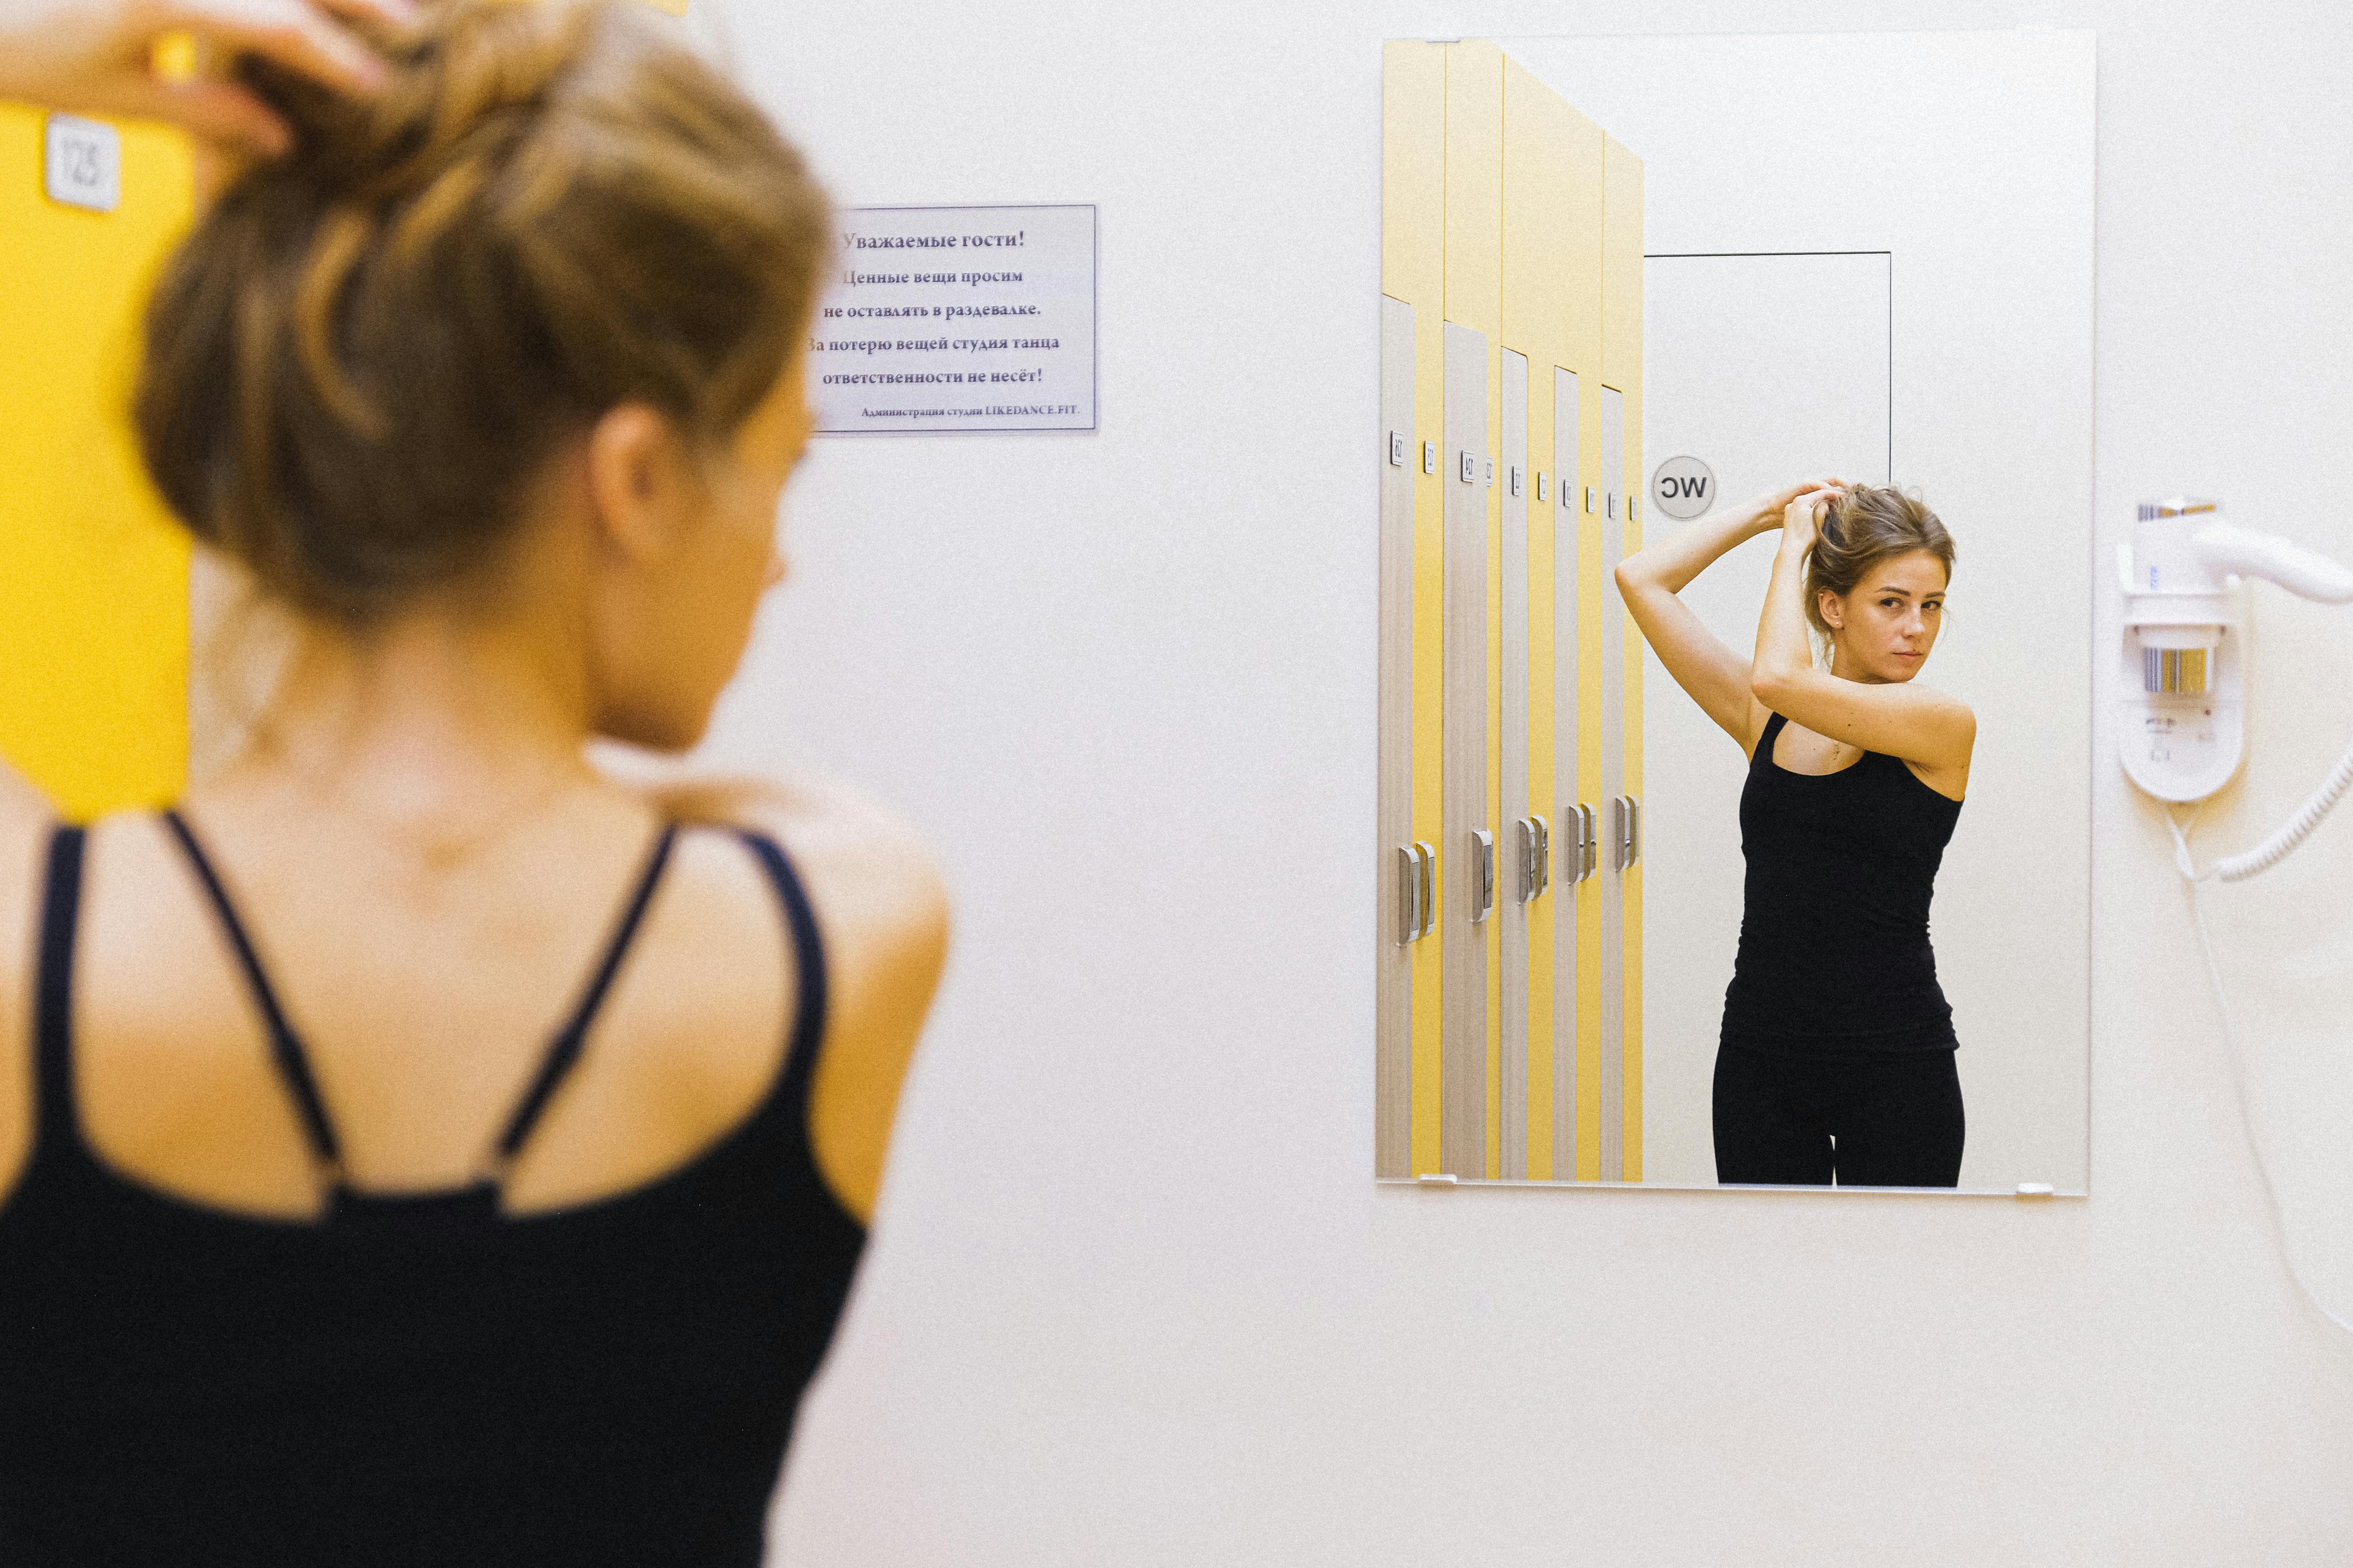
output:
[[[1384,78],[1379,1175],[2082,1192],[2089,35]],[[1751,757],[1626,614],[1624,557],[1826,475],[1953,541],[1849,595],[1878,665],[1842,609],[1819,658],[1967,708],[1965,771],[1791,717]],[[1744,665],[1777,548],[1675,595]]]

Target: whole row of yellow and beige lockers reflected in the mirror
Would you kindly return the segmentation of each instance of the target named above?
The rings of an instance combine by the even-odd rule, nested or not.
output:
[[[1642,165],[1391,42],[1377,1175],[1642,1180]]]

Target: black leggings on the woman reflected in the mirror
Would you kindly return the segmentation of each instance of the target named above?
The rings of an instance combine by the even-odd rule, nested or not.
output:
[[[1715,1048],[1715,1180],[1955,1187],[1960,1074],[1951,1051],[1791,1058]]]

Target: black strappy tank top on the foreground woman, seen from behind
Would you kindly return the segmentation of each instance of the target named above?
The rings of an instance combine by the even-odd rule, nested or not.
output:
[[[271,1032],[325,1220],[111,1171],[73,1095],[82,832],[49,846],[33,1154],[0,1208],[0,1563],[574,1568],[758,1563],[793,1410],[864,1229],[816,1168],[816,922],[774,842],[800,1006],[760,1105],[612,1199],[499,1213],[334,1178],[334,1121],[219,877],[174,820]],[[492,1168],[525,1145],[671,853],[666,830]],[[398,954],[386,954],[398,961]]]

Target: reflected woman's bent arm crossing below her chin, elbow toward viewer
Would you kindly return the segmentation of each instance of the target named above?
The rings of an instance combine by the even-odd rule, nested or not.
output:
[[[1784,510],[1781,550],[1758,618],[1755,701],[1817,736],[1927,771],[1958,771],[1965,780],[1977,748],[1977,715],[1967,703],[1920,682],[1854,682],[1814,668],[1805,637],[1805,555],[1814,548],[1821,505],[1821,496],[1795,496]]]

